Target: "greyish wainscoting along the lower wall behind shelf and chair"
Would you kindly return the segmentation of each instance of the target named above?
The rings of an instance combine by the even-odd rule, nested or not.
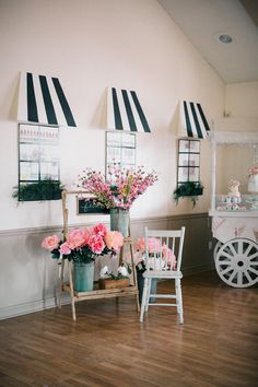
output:
[[[209,250],[212,237],[207,213],[132,220],[133,239],[144,235],[145,225],[160,230],[186,226],[185,275],[214,269],[212,251]],[[60,234],[61,230],[61,226],[51,226],[0,232],[0,319],[57,306],[58,265],[40,244],[45,236]],[[69,295],[62,296],[63,304],[69,302]]]

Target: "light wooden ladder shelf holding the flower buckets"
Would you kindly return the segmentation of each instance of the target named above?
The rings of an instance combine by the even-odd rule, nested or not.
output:
[[[63,235],[66,236],[68,233],[68,215],[69,210],[67,207],[67,196],[68,195],[87,195],[89,192],[80,190],[80,191],[62,191],[62,214],[63,214]],[[92,194],[91,194],[92,197]],[[129,236],[124,238],[124,246],[120,249],[119,254],[119,265],[122,263],[125,247],[129,248],[130,258],[131,258],[131,268],[132,268],[132,283],[127,288],[117,288],[117,289],[106,289],[99,290],[97,288],[97,283],[94,284],[94,290],[90,292],[78,292],[73,289],[73,278],[72,278],[72,262],[63,260],[61,262],[61,267],[59,270],[59,308],[61,308],[61,295],[63,292],[69,292],[71,296],[71,307],[72,307],[72,319],[77,320],[75,313],[75,303],[79,301],[85,300],[97,300],[97,298],[110,298],[110,297],[126,297],[126,296],[134,296],[137,310],[140,310],[139,297],[138,297],[138,286],[137,286],[137,272],[136,266],[133,262],[133,250],[132,250],[132,241],[130,237],[130,227],[129,227]],[[68,273],[68,282],[64,282],[64,274]]]

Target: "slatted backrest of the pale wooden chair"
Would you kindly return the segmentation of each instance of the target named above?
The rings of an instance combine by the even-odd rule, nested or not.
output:
[[[148,270],[180,271],[185,227],[180,230],[144,230]],[[176,268],[174,267],[174,256]]]

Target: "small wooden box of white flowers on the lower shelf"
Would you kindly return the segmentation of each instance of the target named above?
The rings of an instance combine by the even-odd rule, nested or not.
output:
[[[101,278],[98,280],[99,289],[120,289],[130,285],[129,271],[125,266],[119,266],[117,275],[108,273],[108,267],[104,266],[101,270]]]

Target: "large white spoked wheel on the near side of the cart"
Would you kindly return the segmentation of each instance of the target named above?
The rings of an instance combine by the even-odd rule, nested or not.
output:
[[[222,245],[215,256],[220,278],[233,288],[249,288],[258,282],[258,244],[235,238]]]

